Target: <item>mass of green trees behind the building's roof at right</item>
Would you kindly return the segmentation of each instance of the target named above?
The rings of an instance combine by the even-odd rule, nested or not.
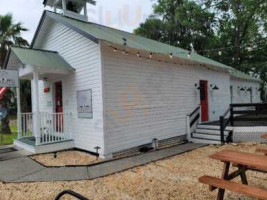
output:
[[[157,0],[136,34],[189,49],[267,82],[266,0]]]

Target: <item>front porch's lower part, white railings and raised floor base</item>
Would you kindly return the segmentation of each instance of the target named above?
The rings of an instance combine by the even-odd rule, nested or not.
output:
[[[68,127],[71,114],[39,113],[20,114],[20,130],[14,144],[32,153],[46,153],[73,147],[71,129]],[[40,122],[40,132],[34,132],[35,121]]]

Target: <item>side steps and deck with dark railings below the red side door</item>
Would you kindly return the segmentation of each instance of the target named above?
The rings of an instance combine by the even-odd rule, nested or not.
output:
[[[192,142],[224,144],[266,142],[267,103],[230,104],[217,120],[200,122],[200,107],[187,117],[188,138]]]

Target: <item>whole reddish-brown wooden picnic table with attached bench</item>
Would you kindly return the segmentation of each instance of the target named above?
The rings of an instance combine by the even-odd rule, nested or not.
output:
[[[247,170],[267,173],[266,156],[238,151],[222,151],[211,155],[210,158],[224,163],[222,176],[221,178],[202,176],[199,181],[209,185],[211,191],[219,188],[217,200],[224,199],[225,190],[267,200],[267,190],[249,186],[246,177]],[[229,174],[231,164],[237,166],[238,169]],[[240,176],[242,184],[231,181],[238,176]]]

